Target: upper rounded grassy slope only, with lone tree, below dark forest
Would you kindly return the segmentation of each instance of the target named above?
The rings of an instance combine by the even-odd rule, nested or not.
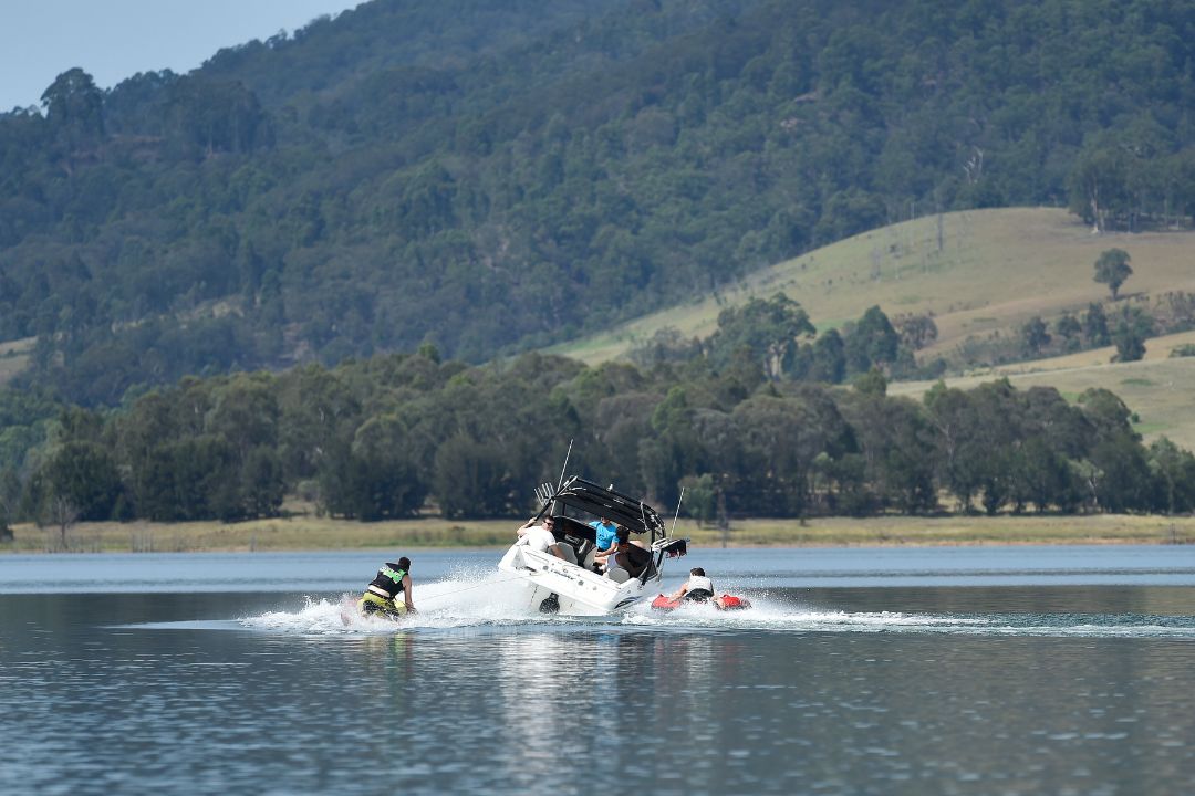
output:
[[[1012,332],[1034,315],[1049,319],[1108,296],[1092,280],[1101,252],[1133,258],[1126,297],[1195,290],[1195,233],[1093,235],[1061,209],[987,209],[926,216],[875,229],[764,269],[730,290],[652,313],[607,334],[553,351],[594,364],[625,354],[657,329],[713,333],[721,309],[784,291],[820,329],[854,320],[872,304],[894,316],[932,313],[949,351],[970,335]],[[1169,351],[1169,348],[1168,348]],[[1079,362],[1110,353],[1087,352]]]

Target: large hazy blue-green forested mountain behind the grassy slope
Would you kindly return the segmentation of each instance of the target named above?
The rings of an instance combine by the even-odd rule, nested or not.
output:
[[[927,211],[1195,214],[1171,0],[375,0],[188,75],[68,66],[0,116],[0,341],[84,405],[479,362]]]

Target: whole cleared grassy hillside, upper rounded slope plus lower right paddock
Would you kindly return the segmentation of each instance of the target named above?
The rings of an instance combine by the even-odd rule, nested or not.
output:
[[[940,247],[939,247],[940,229]],[[718,311],[752,296],[783,290],[809,311],[819,328],[857,319],[872,304],[888,315],[933,313],[939,338],[925,353],[948,353],[968,337],[1016,333],[1034,315],[1050,319],[1107,298],[1092,280],[1107,248],[1133,258],[1124,301],[1195,290],[1195,233],[1092,235],[1058,209],[991,209],[929,216],[856,235],[780,263],[704,301],[654,313],[611,334],[556,351],[595,364],[625,354],[663,327],[707,337]],[[1195,332],[1153,338],[1141,362],[1113,363],[1115,348],[1096,348],[948,377],[951,387],[975,387],[1007,377],[1018,388],[1056,387],[1068,397],[1102,387],[1138,414],[1146,439],[1166,436],[1195,450],[1195,358],[1170,359],[1171,348],[1195,343]],[[930,382],[889,385],[920,396]]]

